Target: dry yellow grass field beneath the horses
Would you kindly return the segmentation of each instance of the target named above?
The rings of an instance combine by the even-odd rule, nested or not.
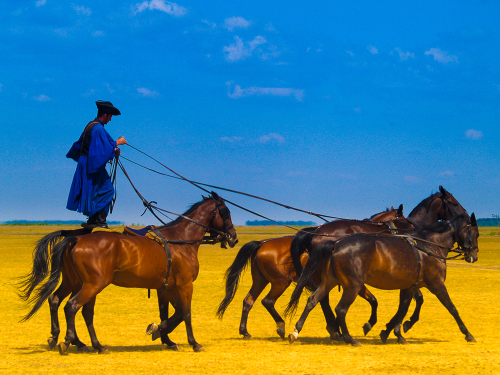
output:
[[[98,296],[94,326],[97,337],[111,352],[78,353],[74,346],[67,355],[48,351],[46,339],[50,332],[48,305],[45,303],[34,317],[19,323],[26,313],[15,294],[14,278],[25,274],[31,266],[31,251],[35,240],[57,230],[57,226],[0,225],[0,372],[51,374],[486,374],[500,373],[500,344],[497,324],[500,318],[500,237],[492,228],[480,228],[479,259],[474,264],[463,260],[448,261],[446,286],[451,300],[476,343],[468,343],[452,316],[437,298],[422,289],[424,303],[420,321],[403,333],[408,345],[396,343],[393,334],[383,344],[378,333],[395,313],[398,291],[371,288],[378,299],[378,322],[366,336],[362,325],[370,307],[357,298],[347,313],[352,336],[362,347],[332,342],[324,326],[321,309],[317,306],[309,315],[299,338],[293,344],[280,339],[275,323],[260,304],[269,286],[261,294],[248,317],[248,331],[253,338],[243,340],[238,334],[242,299],[251,277],[247,271],[236,297],[219,321],[215,310],[224,293],[223,274],[239,247],[253,239],[290,234],[277,226],[236,227],[239,243],[233,249],[203,245],[198,258],[200,271],[194,282],[192,325],[196,340],[206,352],[194,353],[187,343],[185,326],[181,323],[170,338],[179,351],[166,350],[160,340],[151,341],[145,334],[147,324],[159,323],[154,291],[147,299],[144,289],[108,286]],[[292,287],[276,302],[278,312],[284,310]],[[330,294],[334,307],[339,293]],[[298,311],[302,311],[305,296]],[[65,302],[64,302],[65,303]],[[414,302],[410,306],[410,312]],[[292,330],[298,318],[286,320],[286,332]],[[65,332],[62,306],[59,309],[61,335]],[[79,338],[90,345],[83,317],[78,313],[76,329]]]

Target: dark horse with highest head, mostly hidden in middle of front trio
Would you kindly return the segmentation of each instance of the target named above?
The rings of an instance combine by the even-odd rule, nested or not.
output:
[[[446,191],[444,187],[439,186],[438,192],[431,194],[429,197],[418,203],[406,218],[393,220],[391,223],[393,224],[395,230],[404,232],[405,230],[414,230],[415,228],[435,223],[438,220],[447,219],[451,216],[466,212],[465,208],[462,207],[452,194]],[[314,251],[315,247],[321,242],[339,239],[346,234],[351,233],[377,232],[380,232],[380,227],[371,222],[357,221],[349,223],[340,220],[320,225],[316,228],[314,233],[299,232],[295,234],[295,238],[293,239],[290,248],[293,265],[295,266],[298,275],[300,275],[302,271],[301,254],[307,251],[310,255],[310,253]],[[385,232],[389,233],[390,231],[386,230]],[[423,295],[420,290],[415,290],[414,298],[416,302],[415,311],[409,320],[407,320],[403,325],[405,332],[419,319],[420,308],[423,303]],[[370,318],[372,321],[376,321],[376,315],[374,319],[373,314]],[[370,331],[372,326],[373,324],[371,324],[370,321],[363,325],[365,335]]]

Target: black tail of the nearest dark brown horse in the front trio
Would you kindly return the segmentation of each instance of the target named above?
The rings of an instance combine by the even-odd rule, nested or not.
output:
[[[295,289],[293,289],[293,292],[291,293],[290,302],[288,302],[288,306],[284,310],[284,314],[286,316],[293,315],[295,313],[304,287],[311,284],[312,275],[316,269],[318,269],[331,255],[331,252],[335,247],[335,243],[336,241],[324,241],[314,247],[314,251],[309,255],[309,260],[307,260],[307,264],[305,264],[305,267],[297,280]]]

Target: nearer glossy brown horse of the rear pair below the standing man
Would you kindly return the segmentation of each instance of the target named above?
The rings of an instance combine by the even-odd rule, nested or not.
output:
[[[58,306],[71,293],[64,306],[67,329],[64,342],[58,344],[61,354],[71,343],[79,341],[76,341],[74,318],[80,307],[83,307],[82,314],[92,346],[99,353],[108,352],[95,335],[93,308],[96,294],[111,283],[123,287],[156,289],[161,323],[157,326],[153,339],[161,337],[161,342],[167,344],[167,348],[177,349],[177,345],[168,338],[168,333],[184,321],[189,344],[194,351],[203,351],[192,333],[190,311],[192,283],[199,270],[198,247],[207,231],[222,233],[223,236],[218,238],[222,245],[227,243],[233,247],[237,243],[229,209],[222,198],[213,192],[212,195],[203,197],[203,200],[192,205],[176,220],[157,228],[169,244],[170,267],[167,251],[160,243],[146,236],[113,232],[65,237],[52,247],[50,270],[48,254],[35,253],[36,261],[33,261],[33,269],[26,276],[20,293],[23,299],[34,305],[23,320],[29,319],[49,297],[64,269],[62,289],[57,289],[57,302],[53,303]],[[48,273],[50,276],[43,281]],[[34,296],[30,296],[31,292],[35,292]],[[169,303],[175,309],[170,317]],[[50,308],[54,327],[52,303]],[[56,325],[58,329],[58,322]],[[149,333],[152,333],[151,330]],[[57,339],[57,335],[58,331],[52,331],[52,339]]]

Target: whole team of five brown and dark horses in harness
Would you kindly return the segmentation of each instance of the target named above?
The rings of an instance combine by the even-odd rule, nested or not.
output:
[[[205,233],[219,233],[211,238],[221,242],[221,247],[226,244],[234,247],[238,241],[224,200],[214,192],[211,194],[176,220],[157,227],[165,239],[163,243],[147,236],[108,231],[90,233],[83,229],[59,230],[42,237],[33,251],[32,269],[19,284],[19,296],[32,305],[23,320],[29,319],[48,300],[49,348],[57,346],[61,354],[66,353],[69,345],[88,350],[79,340],[74,325],[75,314],[81,308],[93,348],[107,353],[93,327],[96,295],[109,284],[156,289],[161,321],[150,324],[146,332],[176,350],[178,347],[168,334],[184,321],[188,343],[194,351],[204,351],[194,339],[190,313],[193,281],[199,270],[198,247]],[[453,195],[439,186],[439,191],[423,199],[407,217],[403,216],[400,205],[364,220],[334,220],[302,229],[294,236],[250,241],[240,248],[225,273],[225,296],[217,314],[222,318],[244,269],[250,265],[252,285],[243,299],[239,325],[244,338],[251,337],[246,328],[248,313],[269,283],[271,287],[262,304],[274,319],[277,334],[285,338],[285,323],[274,304],[296,282],[285,315],[295,312],[304,288],[311,295],[288,335],[290,342],[297,339],[308,313],[319,302],[330,338],[358,346],[359,342],[348,332],[345,315],[360,295],[371,305],[371,315],[363,325],[364,334],[376,323],[377,300],[366,285],[400,290],[397,312],[380,333],[383,342],[393,331],[399,343],[406,343],[400,327],[402,324],[406,332],[418,320],[423,303],[421,287],[437,296],[466,340],[475,341],[451,302],[444,279],[450,251],[458,252],[467,262],[477,260],[478,235],[474,214],[469,216]],[[456,249],[452,247],[454,243]],[[333,312],[328,293],[337,285],[342,294]],[[66,334],[64,341],[58,342],[57,311],[68,295],[64,306]],[[416,301],[415,311],[403,323],[412,298]],[[174,308],[170,316],[169,304]]]

